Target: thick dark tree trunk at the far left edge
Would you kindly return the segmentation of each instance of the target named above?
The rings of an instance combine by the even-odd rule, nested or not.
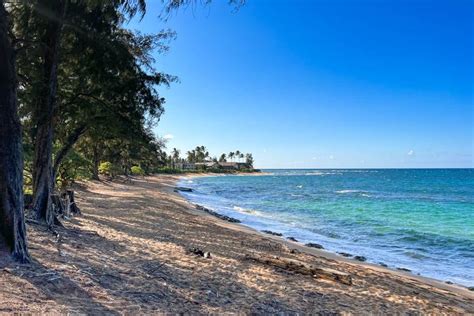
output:
[[[29,261],[23,214],[23,153],[15,57],[0,0],[0,234],[16,260]]]

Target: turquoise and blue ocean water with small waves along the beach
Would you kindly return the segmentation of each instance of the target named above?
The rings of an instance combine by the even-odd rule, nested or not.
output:
[[[474,169],[264,171],[180,185],[258,230],[474,286]]]

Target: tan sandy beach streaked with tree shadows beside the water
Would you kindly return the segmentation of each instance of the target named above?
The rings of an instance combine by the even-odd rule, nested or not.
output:
[[[264,235],[197,210],[179,176],[85,182],[83,215],[28,224],[0,261],[0,313],[474,313],[474,292]]]

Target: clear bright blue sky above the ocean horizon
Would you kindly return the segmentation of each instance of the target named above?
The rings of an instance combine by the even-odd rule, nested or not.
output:
[[[473,1],[248,0],[129,24],[171,28],[156,133],[260,168],[473,167]]]

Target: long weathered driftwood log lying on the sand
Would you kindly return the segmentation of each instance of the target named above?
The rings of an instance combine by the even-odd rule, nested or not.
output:
[[[314,267],[296,260],[283,259],[279,257],[245,255],[245,259],[258,262],[264,265],[269,265],[285,271],[291,271],[298,274],[310,275],[314,278],[321,278],[325,280],[340,282],[346,285],[352,285],[352,277],[350,274],[339,272],[334,269]]]

